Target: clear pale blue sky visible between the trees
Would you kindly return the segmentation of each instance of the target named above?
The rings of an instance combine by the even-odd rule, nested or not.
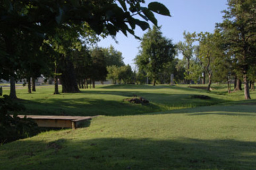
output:
[[[161,25],[163,36],[173,40],[173,43],[184,41],[183,32],[214,32],[215,24],[223,21],[223,13],[221,11],[227,9],[226,0],[146,0],[147,6],[150,2],[159,2],[164,4],[170,11],[169,16],[163,16],[155,13],[158,25]],[[152,24],[151,24],[152,25]],[[135,34],[142,37],[146,31],[140,28],[135,29]],[[116,43],[118,41],[118,43]],[[111,37],[102,39],[99,47],[114,46],[117,51],[122,52],[124,63],[135,67],[133,59],[138,55],[140,41],[135,39],[133,35],[127,37],[122,33],[117,33],[116,41]],[[182,56],[179,55],[179,58]]]

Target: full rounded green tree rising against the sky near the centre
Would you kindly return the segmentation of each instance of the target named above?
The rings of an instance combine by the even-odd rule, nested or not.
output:
[[[143,35],[140,44],[139,55],[135,63],[141,67],[156,85],[159,74],[163,73],[165,65],[172,61],[175,55],[175,46],[172,40],[163,37],[160,29],[153,26],[153,29]]]

